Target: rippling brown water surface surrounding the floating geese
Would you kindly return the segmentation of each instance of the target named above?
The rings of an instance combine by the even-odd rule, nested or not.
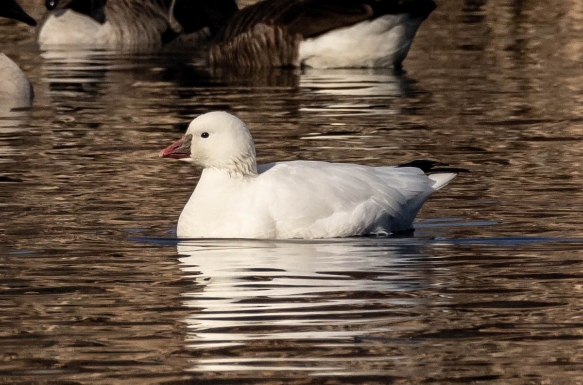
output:
[[[440,3],[403,74],[48,54],[0,22],[36,88],[0,117],[0,383],[583,383],[582,12]],[[262,162],[474,172],[412,238],[176,245],[199,171],[157,150],[210,110]]]

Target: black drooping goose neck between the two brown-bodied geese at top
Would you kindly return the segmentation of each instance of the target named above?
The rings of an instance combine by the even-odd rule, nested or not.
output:
[[[174,5],[174,17],[186,33],[209,27],[212,36],[237,13],[234,0],[214,0],[212,2],[177,0]]]

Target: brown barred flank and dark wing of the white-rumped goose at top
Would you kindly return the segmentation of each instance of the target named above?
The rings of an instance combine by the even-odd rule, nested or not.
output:
[[[231,18],[216,36],[209,62],[215,66],[297,66],[303,38],[358,23],[373,13],[360,0],[264,0]]]

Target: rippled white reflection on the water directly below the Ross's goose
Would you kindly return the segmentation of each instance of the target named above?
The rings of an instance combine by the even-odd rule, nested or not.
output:
[[[210,347],[381,332],[375,320],[386,327],[387,309],[419,301],[403,293],[429,285],[412,268],[420,244],[411,238],[182,241],[181,270],[201,287],[183,293],[185,305],[196,309],[187,320],[193,342]]]

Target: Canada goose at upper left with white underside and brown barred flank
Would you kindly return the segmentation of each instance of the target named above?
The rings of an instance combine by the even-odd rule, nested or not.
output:
[[[234,0],[46,0],[41,48],[155,51],[182,34],[207,41],[237,12]]]

